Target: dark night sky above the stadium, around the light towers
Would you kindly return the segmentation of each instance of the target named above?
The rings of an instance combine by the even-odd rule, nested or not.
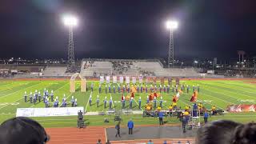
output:
[[[0,58],[66,58],[62,15],[79,18],[75,58],[166,58],[166,20],[175,58],[256,55],[255,0],[1,0]]]

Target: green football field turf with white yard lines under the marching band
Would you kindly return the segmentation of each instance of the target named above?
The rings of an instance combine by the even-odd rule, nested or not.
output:
[[[249,80],[248,80],[249,81]],[[94,83],[94,91],[91,93],[90,85]],[[218,107],[218,109],[226,110],[226,106],[230,104],[255,104],[256,103],[256,85],[250,82],[245,81],[227,81],[227,80],[216,80],[216,81],[198,81],[198,80],[190,80],[190,81],[181,81],[181,84],[190,85],[190,93],[187,94],[184,92],[181,94],[178,100],[178,106],[181,106],[182,109],[185,106],[191,106],[192,102],[190,102],[190,98],[192,95],[192,86],[200,86],[200,93],[198,94],[198,102],[202,102],[207,109],[210,109],[212,105]],[[166,83],[167,84],[167,83]],[[76,82],[77,90],[74,94],[69,92],[69,81],[68,80],[43,80],[43,81],[18,81],[18,80],[2,80],[0,81],[0,123],[6,120],[7,118],[12,118],[15,116],[17,108],[27,108],[27,107],[45,107],[43,102],[38,102],[35,105],[30,102],[24,102],[24,92],[26,91],[28,94],[38,90],[43,92],[46,88],[51,91],[54,90],[54,97],[58,96],[58,99],[62,100],[63,94],[66,94],[67,102],[70,101],[71,96],[78,99],[78,106],[84,106],[87,112],[96,112],[96,111],[106,111],[109,110],[109,103],[107,102],[107,108],[105,109],[103,106],[103,100],[105,97],[110,99],[112,97],[114,101],[114,109],[121,110],[122,103],[120,102],[122,93],[118,94],[118,90],[116,89],[116,93],[105,93],[105,84],[102,84],[102,93],[98,94],[98,85],[99,82],[88,81],[88,91],[80,92],[80,83]],[[116,84],[112,84],[112,88]],[[130,84],[131,86],[131,84]],[[148,85],[150,88],[150,85]],[[150,89],[148,90],[148,92]],[[92,106],[89,106],[89,97],[92,95]],[[96,106],[96,98],[99,95],[100,98],[100,106]],[[127,95],[127,93],[125,94]],[[138,109],[138,98],[142,98],[142,106],[146,103],[146,94],[143,93],[135,93],[133,110]],[[163,98],[163,110],[168,110],[168,106],[172,103],[171,93],[166,94],[162,92]],[[29,99],[29,98],[28,98]],[[159,100],[160,98],[158,98]],[[70,106],[70,105],[68,105]],[[129,107],[129,102],[126,102],[126,108]],[[103,119],[109,118],[110,123],[104,123]],[[114,125],[113,122],[114,115],[107,116],[86,116],[86,121],[90,123],[92,126],[102,126],[102,125]],[[137,124],[157,124],[158,120],[155,118],[142,118],[141,114],[133,114],[133,115],[122,115],[123,122],[126,122],[129,118],[133,118],[134,122]],[[38,120],[38,122],[42,123],[43,126],[46,127],[62,127],[62,126],[76,126],[76,117],[47,117],[47,118],[34,118]],[[256,119],[256,113],[237,113],[237,114],[225,114],[224,116],[213,116],[210,120],[216,119],[230,119],[238,122],[250,122]],[[177,123],[177,118],[166,118],[167,123]]]

